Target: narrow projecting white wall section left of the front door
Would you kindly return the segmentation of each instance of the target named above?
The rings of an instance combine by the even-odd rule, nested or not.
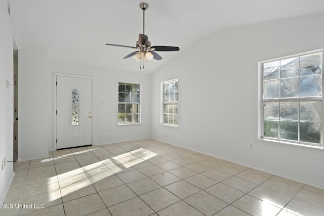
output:
[[[18,159],[48,157],[47,49],[19,44]]]

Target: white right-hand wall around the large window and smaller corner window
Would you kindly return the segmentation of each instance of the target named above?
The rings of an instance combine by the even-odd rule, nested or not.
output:
[[[323,48],[323,26],[321,13],[199,39],[151,75],[151,138],[324,188],[324,151],[256,140],[258,62]],[[160,125],[160,82],[174,78],[178,128]]]

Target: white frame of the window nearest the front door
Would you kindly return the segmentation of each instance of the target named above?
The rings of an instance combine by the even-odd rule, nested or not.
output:
[[[139,93],[138,93],[138,102],[120,102],[119,101],[119,93],[122,93],[122,92],[119,92],[119,84],[125,84],[125,85],[127,85],[127,84],[131,84],[132,85],[132,88],[133,88],[133,85],[135,84],[135,85],[139,85]],[[125,87],[126,88],[126,87]],[[141,88],[142,88],[142,84],[141,83],[137,83],[137,82],[128,82],[128,81],[118,81],[118,116],[117,116],[117,125],[119,126],[119,125],[135,125],[135,124],[141,124],[141,122],[142,122],[142,118],[141,118],[141,116],[142,116],[142,114],[141,114],[141,105],[142,105],[142,103],[141,103],[141,93],[142,93],[142,91],[141,91]],[[126,92],[125,92],[126,93]],[[133,94],[133,93],[132,93]],[[120,114],[120,112],[119,112],[119,104],[136,104],[136,105],[138,105],[138,121],[137,122],[119,122],[119,114]]]

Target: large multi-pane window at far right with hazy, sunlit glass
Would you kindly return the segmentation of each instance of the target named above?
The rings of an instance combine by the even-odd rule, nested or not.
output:
[[[322,51],[261,63],[262,138],[322,146]]]

